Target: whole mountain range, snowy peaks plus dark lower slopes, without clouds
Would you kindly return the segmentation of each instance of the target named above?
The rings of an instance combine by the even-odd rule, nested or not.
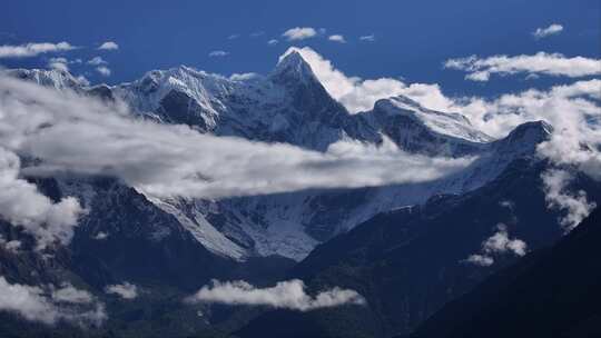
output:
[[[555,255],[549,252],[564,252],[561,248],[572,246],[565,242],[592,231],[579,229],[556,248],[543,249],[563,235],[560,215],[548,208],[542,189],[541,173],[550,165],[536,155],[552,126],[526,122],[494,139],[460,113],[431,110],[403,96],[349,113],[298,52],[265,77],[226,78],[179,67],[154,70],[129,83],[90,87],[59,70],[8,73],[57,90],[122,100],[136,118],[188,125],[201,133],[315,151],[341,140],[371,146],[390,140],[410,153],[477,157],[463,171],[428,182],[226,199],[145,196],[111,177],[29,178],[53,200],[77,197],[89,212],[72,242],[52,257],[27,250],[32,239],[0,220],[3,239],[23,242],[19,252],[0,246],[0,276],[24,285],[69,281],[101,298],[110,314],[102,328],[83,334],[63,326],[56,329],[57,337],[392,337],[417,328],[417,337],[483,337],[477,336],[487,325],[483,316],[482,326],[472,331],[469,315],[457,316],[456,328],[446,326],[455,325],[451,317],[457,305],[465,314],[494,311],[516,320],[503,308],[473,299],[491,297],[491,284],[499,288],[495,281],[476,287],[482,280],[544,265]],[[585,176],[573,188],[601,201],[601,185]],[[588,223],[598,218],[591,216]],[[501,223],[504,236],[523,241],[534,254],[523,258],[522,267],[495,275],[522,254],[503,248],[490,254],[486,265],[470,257],[481,254]],[[538,271],[528,280],[540,282],[536,278],[549,274]],[[295,312],[181,304],[214,278],[258,286],[299,278],[309,290],[357,290],[367,305]],[[124,280],[145,292],[127,304],[104,292],[107,285]],[[518,297],[520,278],[502,282],[504,300]],[[569,295],[570,301],[577,296]],[[11,314],[0,312],[0,319],[2,337],[37,337],[47,330]],[[561,326],[568,328],[580,327],[574,321]]]

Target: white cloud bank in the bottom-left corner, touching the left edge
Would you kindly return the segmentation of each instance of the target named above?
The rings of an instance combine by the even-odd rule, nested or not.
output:
[[[10,284],[0,276],[0,311],[17,314],[30,321],[55,325],[67,321],[79,326],[100,326],[106,319],[105,306],[71,285],[32,287]]]

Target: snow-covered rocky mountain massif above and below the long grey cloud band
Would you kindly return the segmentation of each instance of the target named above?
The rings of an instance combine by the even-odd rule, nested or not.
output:
[[[159,200],[209,251],[244,260],[255,255],[302,259],[317,243],[381,211],[422,203],[442,193],[464,193],[494,179],[510,162],[529,157],[551,131],[532,122],[493,140],[459,115],[420,106],[406,97],[383,99],[371,111],[351,115],[317,80],[297,52],[268,76],[233,77],[189,67],[154,70],[118,86],[86,87],[66,72],[13,70],[16,76],[59,90],[122,100],[132,111],[199,132],[286,142],[325,151],[336,141],[381,145],[427,156],[477,156],[470,168],[441,180],[368,189],[312,190],[221,200]]]

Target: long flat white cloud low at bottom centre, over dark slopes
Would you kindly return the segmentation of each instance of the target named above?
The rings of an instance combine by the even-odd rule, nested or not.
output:
[[[246,281],[214,280],[213,285],[204,286],[188,302],[218,302],[226,305],[266,306],[277,309],[311,311],[319,308],[338,307],[343,305],[365,305],[365,299],[354,290],[338,287],[312,297],[305,291],[302,280],[279,281],[275,287],[256,288]]]

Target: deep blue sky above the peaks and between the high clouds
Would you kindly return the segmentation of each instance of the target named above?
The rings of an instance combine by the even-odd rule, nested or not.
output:
[[[479,54],[561,52],[599,58],[600,0],[421,0],[421,1],[4,1],[0,11],[0,44],[68,41],[85,47],[66,57],[100,54],[112,76],[97,81],[130,81],[150,69],[188,64],[211,72],[268,72],[290,43],[280,34],[293,27],[327,29],[348,43],[316,38],[293,43],[311,46],[347,74],[363,78],[404,77],[408,82],[437,82],[451,95],[497,93],[561,79],[524,81],[495,77],[486,83],[444,70],[449,58]],[[532,38],[539,27],[556,22],[561,34]],[[250,37],[254,32],[264,32]],[[228,40],[230,34],[239,38]],[[375,34],[376,41],[358,41]],[[268,46],[276,38],[277,46]],[[102,41],[118,51],[99,52]],[[213,50],[230,52],[210,58]],[[3,59],[4,67],[45,67],[50,54]]]

